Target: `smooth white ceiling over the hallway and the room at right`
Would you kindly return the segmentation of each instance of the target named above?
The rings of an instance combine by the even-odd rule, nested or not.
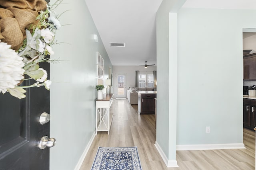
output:
[[[162,0],[85,1],[112,65],[156,64],[156,11]],[[187,0],[183,7],[256,9],[256,0]]]

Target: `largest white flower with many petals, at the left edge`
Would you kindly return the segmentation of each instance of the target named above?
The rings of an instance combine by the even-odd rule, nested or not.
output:
[[[10,49],[10,45],[0,42],[0,92],[14,88],[24,78],[22,57]]]

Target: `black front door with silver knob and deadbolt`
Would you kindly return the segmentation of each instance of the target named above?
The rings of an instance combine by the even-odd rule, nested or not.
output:
[[[40,67],[50,75],[48,63]],[[38,144],[50,135],[50,123],[39,122],[41,113],[50,113],[50,92],[44,86],[26,91],[21,100],[0,94],[0,170],[49,169],[49,148],[41,150]]]

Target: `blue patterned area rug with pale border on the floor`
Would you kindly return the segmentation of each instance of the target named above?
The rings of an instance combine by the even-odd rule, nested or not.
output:
[[[92,170],[142,170],[137,147],[99,147]]]

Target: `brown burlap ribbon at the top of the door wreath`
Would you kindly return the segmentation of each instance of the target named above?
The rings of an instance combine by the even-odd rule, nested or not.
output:
[[[36,24],[38,12],[46,10],[45,0],[0,0],[0,39],[18,50],[26,38],[26,29]]]

